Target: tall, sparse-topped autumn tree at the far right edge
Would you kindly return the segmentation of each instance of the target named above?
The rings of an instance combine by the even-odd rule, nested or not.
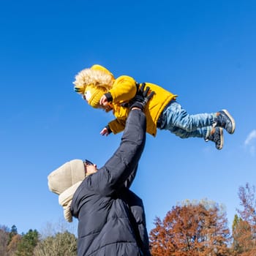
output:
[[[238,197],[241,210],[233,221],[233,251],[234,255],[256,255],[256,200],[255,187],[246,183],[239,187]]]

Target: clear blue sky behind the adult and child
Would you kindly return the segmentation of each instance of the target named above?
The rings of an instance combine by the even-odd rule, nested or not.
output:
[[[118,147],[120,134],[99,135],[113,116],[73,91],[92,64],[157,83],[189,113],[230,111],[236,132],[225,132],[222,151],[166,131],[148,135],[132,190],[148,231],[187,199],[224,204],[232,225],[238,188],[256,178],[255,31],[255,1],[2,2],[0,225],[26,233],[59,222],[48,174],[71,159],[100,167]]]

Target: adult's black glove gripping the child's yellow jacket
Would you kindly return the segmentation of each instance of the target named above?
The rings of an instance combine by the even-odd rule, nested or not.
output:
[[[128,103],[129,109],[132,108],[140,108],[140,110],[144,110],[146,104],[148,103],[148,100],[151,99],[154,95],[154,91],[151,91],[150,94],[148,94],[148,91],[150,88],[147,86],[146,90],[144,90],[146,86],[146,83],[142,83],[142,86],[140,89],[137,91],[137,94],[131,101]],[[147,95],[148,94],[148,95]]]

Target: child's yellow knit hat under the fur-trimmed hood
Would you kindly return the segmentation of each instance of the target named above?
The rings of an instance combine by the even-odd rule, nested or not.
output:
[[[92,108],[99,108],[99,99],[105,94],[107,90],[104,87],[86,86],[84,96]]]

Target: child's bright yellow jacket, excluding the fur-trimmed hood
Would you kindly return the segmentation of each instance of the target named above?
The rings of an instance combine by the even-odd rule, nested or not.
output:
[[[151,91],[155,92],[154,96],[146,105],[146,131],[149,134],[156,136],[157,120],[161,115],[162,110],[164,110],[165,106],[170,102],[170,100],[176,99],[177,95],[170,93],[170,91],[166,91],[154,83],[146,83],[146,86],[149,86]],[[113,114],[116,116],[116,119],[110,121],[108,125],[114,134],[124,130],[125,121],[129,113],[129,109],[122,107],[121,104],[128,102],[130,99],[135,97],[136,91],[136,81],[127,75],[118,77],[113,83],[113,87],[109,90],[111,96],[113,97],[112,107]]]

